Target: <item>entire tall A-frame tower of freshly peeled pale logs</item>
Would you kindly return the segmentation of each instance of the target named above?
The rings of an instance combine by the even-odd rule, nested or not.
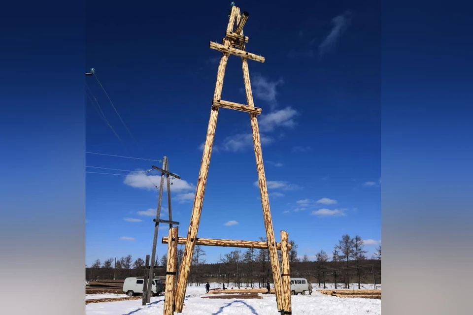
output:
[[[196,195],[194,199],[194,206],[192,209],[191,221],[189,224],[189,230],[187,232],[187,238],[177,237],[177,228],[172,228],[169,231],[169,237],[163,238],[163,243],[169,245],[168,255],[168,272],[170,276],[167,277],[166,282],[166,295],[168,290],[175,285],[175,263],[169,259],[170,255],[174,254],[175,247],[177,244],[185,244],[184,254],[182,257],[182,263],[179,269],[179,276],[177,279],[177,286],[175,292],[170,295],[174,298],[174,306],[170,306],[170,299],[167,298],[168,307],[165,307],[165,315],[173,314],[173,312],[182,313],[184,304],[184,295],[186,292],[187,282],[189,278],[189,272],[191,267],[192,256],[194,253],[194,247],[199,245],[207,246],[226,246],[226,247],[243,247],[243,248],[263,248],[268,249],[270,254],[270,263],[272,268],[272,276],[274,289],[276,292],[277,309],[281,314],[291,314],[291,295],[290,295],[290,278],[289,278],[289,249],[287,232],[281,231],[281,243],[276,243],[274,237],[274,230],[272,226],[270,203],[268,196],[268,188],[266,184],[265,169],[263,165],[263,155],[261,150],[260,131],[258,127],[257,116],[261,114],[261,108],[257,108],[253,102],[253,95],[251,91],[250,75],[248,70],[248,59],[254,60],[260,63],[265,62],[265,58],[246,52],[245,43],[248,42],[248,37],[243,34],[243,27],[248,19],[248,12],[240,13],[240,9],[236,6],[232,6],[230,12],[230,20],[228,22],[227,31],[223,38],[222,44],[210,42],[209,47],[214,50],[222,52],[220,58],[220,64],[217,70],[217,82],[215,85],[215,91],[213,94],[212,107],[210,111],[210,119],[207,127],[207,136],[205,139],[203,157],[201,161],[201,168],[199,171],[199,178],[197,181]],[[236,27],[235,27],[236,25]],[[241,57],[243,80],[246,91],[247,104],[238,104],[231,101],[221,99],[223,79],[225,75],[225,69],[227,61],[230,55],[236,55]],[[215,136],[215,128],[217,125],[218,111],[220,108],[233,109],[237,111],[247,112],[250,116],[251,128],[253,130],[253,144],[256,157],[256,168],[258,171],[258,182],[261,194],[261,203],[263,206],[263,217],[266,227],[267,242],[254,242],[254,241],[233,241],[233,240],[216,240],[216,239],[198,239],[197,231],[199,229],[199,222],[202,213],[203,196],[205,192],[205,184],[207,181],[208,167],[210,163],[210,155],[212,152],[212,146]],[[282,256],[282,274],[278,260],[277,250],[281,250]],[[168,296],[169,297],[169,296]],[[172,310],[173,309],[173,310]],[[171,311],[172,310],[172,311]]]

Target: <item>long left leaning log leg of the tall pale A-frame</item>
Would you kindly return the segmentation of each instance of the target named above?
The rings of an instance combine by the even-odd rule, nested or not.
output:
[[[236,6],[232,7],[230,18],[227,25],[227,31],[231,32],[235,24]],[[225,47],[230,46],[230,40],[224,40]],[[223,53],[220,58],[220,64],[217,70],[217,82],[215,84],[215,91],[213,99],[220,99],[222,96],[223,79],[225,76],[225,69],[228,62],[228,53]],[[205,184],[207,182],[208,167],[210,164],[210,156],[212,153],[213,140],[215,138],[215,128],[217,126],[218,107],[212,108],[210,111],[210,119],[207,126],[207,136],[205,138],[201,167],[199,170],[199,177],[197,180],[196,196],[194,198],[194,205],[192,207],[191,221],[189,223],[189,230],[187,232],[186,246],[184,247],[184,254],[182,256],[181,267],[179,269],[179,278],[177,280],[176,297],[175,297],[175,312],[182,313],[184,306],[184,295],[186,293],[187,281],[189,279],[189,272],[194,255],[194,248],[196,245],[197,231],[199,230],[199,221],[201,219],[203,196],[205,193]]]

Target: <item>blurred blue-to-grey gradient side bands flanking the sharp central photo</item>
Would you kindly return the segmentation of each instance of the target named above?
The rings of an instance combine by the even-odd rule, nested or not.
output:
[[[470,12],[383,6],[383,315],[471,313]],[[1,314],[84,314],[84,24],[84,3],[0,11]]]

